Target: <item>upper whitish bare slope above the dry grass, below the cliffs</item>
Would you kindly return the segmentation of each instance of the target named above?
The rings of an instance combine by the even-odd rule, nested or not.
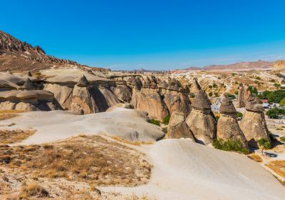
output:
[[[8,126],[8,124],[16,124]],[[21,144],[41,144],[78,134],[110,134],[135,141],[155,141],[164,136],[139,111],[114,108],[110,112],[75,115],[67,111],[33,111],[0,121],[0,129],[36,129]]]

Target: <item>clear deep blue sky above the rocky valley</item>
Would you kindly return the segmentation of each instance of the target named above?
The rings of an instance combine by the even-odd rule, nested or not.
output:
[[[285,59],[285,1],[1,1],[0,29],[110,69]]]

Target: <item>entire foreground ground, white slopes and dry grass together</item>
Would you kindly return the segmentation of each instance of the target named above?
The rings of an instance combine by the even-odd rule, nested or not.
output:
[[[257,151],[260,164],[243,154],[188,139],[155,142],[163,132],[130,109],[83,116],[67,111],[27,112],[0,121],[0,131],[4,130],[35,133],[10,146],[1,145],[0,199],[260,200],[285,196],[284,186],[265,166],[285,160],[284,150],[275,152],[275,158]],[[266,152],[271,151],[277,150]]]

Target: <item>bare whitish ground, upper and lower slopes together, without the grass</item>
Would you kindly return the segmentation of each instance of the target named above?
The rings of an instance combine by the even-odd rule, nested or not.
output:
[[[15,123],[14,126],[7,126]],[[66,111],[30,112],[0,121],[0,129],[36,129],[22,144],[65,139],[76,134],[112,134],[154,141],[161,135],[133,110],[76,116]],[[147,194],[153,199],[284,199],[285,189],[261,164],[245,155],[220,151],[187,139],[163,139],[137,146],[153,165],[148,184],[100,187],[104,192]]]

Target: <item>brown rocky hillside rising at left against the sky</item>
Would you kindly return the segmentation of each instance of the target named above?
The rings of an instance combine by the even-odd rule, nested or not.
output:
[[[50,69],[53,66],[88,68],[88,66],[78,64],[76,61],[48,56],[40,46],[31,46],[31,44],[0,31],[0,71],[37,71]]]

